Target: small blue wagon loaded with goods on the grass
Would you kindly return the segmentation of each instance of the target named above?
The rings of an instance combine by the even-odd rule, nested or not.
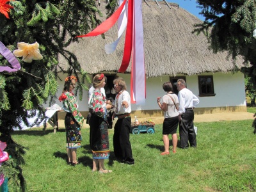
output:
[[[140,124],[131,124],[131,132],[132,134],[140,134],[140,132],[147,132],[149,134],[155,133],[155,124],[151,121],[141,122]]]

